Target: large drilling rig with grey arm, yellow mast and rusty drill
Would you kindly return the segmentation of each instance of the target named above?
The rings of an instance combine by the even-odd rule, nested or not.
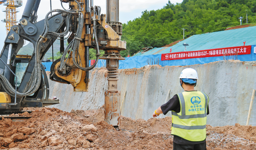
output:
[[[51,10],[45,19],[36,21],[40,0],[27,0],[18,25],[11,27],[0,55],[0,113],[19,112],[24,107],[58,104],[49,99],[49,83],[41,62],[55,40],[60,40],[63,56],[51,65],[49,78],[71,84],[74,92],[87,92],[89,71],[99,59],[106,60],[108,88],[105,91],[105,120],[120,125],[120,91],[117,90],[117,69],[120,55],[126,49],[121,40],[119,0],[107,0],[107,14],[90,0],[60,0],[69,8]],[[53,15],[50,15],[53,13]],[[64,37],[68,46],[64,48]],[[27,58],[17,58],[23,40],[30,41],[34,51]],[[89,67],[89,48],[96,49],[96,62]],[[100,57],[100,50],[105,54]],[[18,63],[27,63],[23,74],[17,76]],[[18,79],[18,80],[17,80]],[[18,82],[19,81],[19,82]]]

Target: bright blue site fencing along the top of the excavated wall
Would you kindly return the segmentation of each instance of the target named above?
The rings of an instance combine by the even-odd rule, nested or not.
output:
[[[252,45],[251,54],[239,55],[238,60],[240,61],[256,61],[256,54],[254,53],[254,47]],[[206,57],[206,58],[191,58],[183,60],[164,60],[161,61],[161,54],[156,55],[144,55],[144,56],[133,56],[127,57],[125,60],[119,60],[119,69],[131,69],[131,68],[140,68],[146,65],[161,65],[161,66],[176,66],[176,65],[195,65],[195,64],[204,64],[210,62],[216,62],[219,60],[224,60],[223,56],[219,57]],[[92,60],[94,61],[94,60]],[[42,63],[45,66],[45,71],[50,71],[52,62]],[[90,66],[91,60],[89,62]],[[96,67],[106,67],[106,60],[99,60]]]

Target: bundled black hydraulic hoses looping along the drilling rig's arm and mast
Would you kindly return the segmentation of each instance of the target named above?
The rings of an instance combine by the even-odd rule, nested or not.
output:
[[[64,54],[61,57],[61,66],[59,67],[60,71],[62,71],[64,69],[64,64],[66,63],[65,61],[65,56],[68,53],[68,50],[71,48],[72,51],[72,59],[74,62],[74,66],[77,67],[78,69],[82,69],[84,71],[90,71],[92,70],[96,63],[99,60],[100,57],[100,49],[99,49],[99,44],[98,44],[98,38],[97,38],[97,33],[96,33],[96,8],[98,10],[98,15],[100,15],[100,7],[99,6],[95,6],[93,8],[93,12],[94,12],[94,16],[93,16],[93,33],[94,33],[94,38],[96,41],[96,62],[94,63],[94,65],[90,66],[90,67],[81,67],[80,63],[77,62],[77,57],[76,55],[78,55],[78,49],[79,49],[79,45],[80,45],[80,40],[81,40],[81,36],[82,36],[82,30],[83,30],[83,26],[84,26],[84,15],[83,13],[81,13],[81,11],[83,11],[84,8],[81,8],[79,2],[77,0],[74,0],[77,3],[78,9],[77,10],[52,10],[50,12],[47,13],[47,15],[45,16],[45,25],[44,25],[44,29],[43,32],[41,33],[41,35],[39,36],[39,38],[37,39],[37,42],[35,44],[35,67],[33,69],[33,72],[31,74],[31,77],[29,79],[29,83],[27,84],[27,87],[25,88],[23,93],[17,92],[17,98],[21,98],[24,96],[28,96],[31,95],[33,93],[35,93],[37,91],[37,89],[39,88],[40,84],[41,84],[41,66],[40,63],[42,60],[39,59],[39,54],[41,52],[41,44],[42,42],[45,40],[46,37],[53,37],[53,38],[60,38],[60,37],[64,37],[66,36],[69,32],[70,32],[70,27],[71,27],[71,19],[74,15],[76,15],[78,13],[78,28],[75,34],[74,39],[70,42],[70,44],[67,46],[67,48],[64,50]],[[49,14],[53,13],[53,12],[57,12],[54,15],[51,15],[49,17]],[[49,19],[62,14],[62,13],[66,13],[67,17],[65,19],[66,21],[66,29],[64,30],[64,32],[62,33],[56,33],[56,32],[49,32]],[[71,53],[68,54],[68,56],[70,56]],[[10,84],[10,82],[4,77],[4,75],[0,74],[0,84],[3,87],[4,91],[6,93],[8,93],[10,96],[15,97],[15,89],[12,87],[12,85]]]

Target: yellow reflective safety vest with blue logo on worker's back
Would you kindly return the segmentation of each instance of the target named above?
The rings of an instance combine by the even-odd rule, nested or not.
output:
[[[172,135],[195,142],[205,140],[208,96],[199,91],[185,91],[178,98],[180,112],[172,111]]]

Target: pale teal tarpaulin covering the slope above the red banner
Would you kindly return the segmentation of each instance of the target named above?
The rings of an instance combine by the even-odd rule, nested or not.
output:
[[[246,45],[254,45],[256,44],[256,36],[255,36],[256,26],[254,27],[246,27],[241,29],[233,29],[227,31],[218,31],[213,33],[205,33],[201,35],[193,35],[189,38],[186,38],[182,42],[178,42],[177,44],[163,48],[154,48],[147,52],[138,53],[135,56],[143,56],[150,54],[166,54],[170,53],[170,49],[172,48],[172,52],[182,52],[184,51],[183,43],[189,44],[186,46],[186,51],[197,51],[197,50],[207,50],[214,48],[225,48],[225,47],[233,47],[233,46],[243,46],[246,41]]]

